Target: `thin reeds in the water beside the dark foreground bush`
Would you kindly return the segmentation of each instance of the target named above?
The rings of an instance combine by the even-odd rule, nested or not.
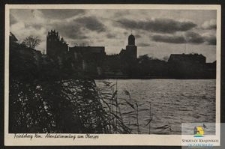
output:
[[[104,107],[110,111],[112,114],[112,122],[115,122],[115,125],[117,127],[120,127],[120,124],[118,123],[118,119],[120,122],[123,123],[129,130],[130,133],[142,133],[140,130],[140,127],[147,127],[149,129],[149,134],[151,133],[151,122],[153,120],[152,115],[152,108],[151,108],[151,102],[149,103],[148,109],[141,109],[138,101],[134,98],[132,98],[131,93],[128,90],[123,90],[123,94],[126,95],[125,97],[119,97],[118,92],[121,92],[121,89],[118,88],[117,81],[115,83],[109,82],[109,81],[101,81],[102,85],[99,85],[98,92],[101,95],[101,101],[104,103]],[[122,110],[123,108],[126,108],[126,111]],[[145,126],[141,126],[139,122],[139,113],[148,110],[149,111],[149,119]],[[128,119],[128,120],[127,120]],[[133,120],[135,120],[135,123],[133,123]],[[136,129],[134,129],[136,128]]]

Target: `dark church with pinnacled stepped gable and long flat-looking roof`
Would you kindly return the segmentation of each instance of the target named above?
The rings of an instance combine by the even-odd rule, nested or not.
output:
[[[51,30],[47,35],[47,55],[55,60],[60,67],[92,75],[102,74],[102,64],[105,59],[105,47],[74,46],[69,47],[59,33]]]

